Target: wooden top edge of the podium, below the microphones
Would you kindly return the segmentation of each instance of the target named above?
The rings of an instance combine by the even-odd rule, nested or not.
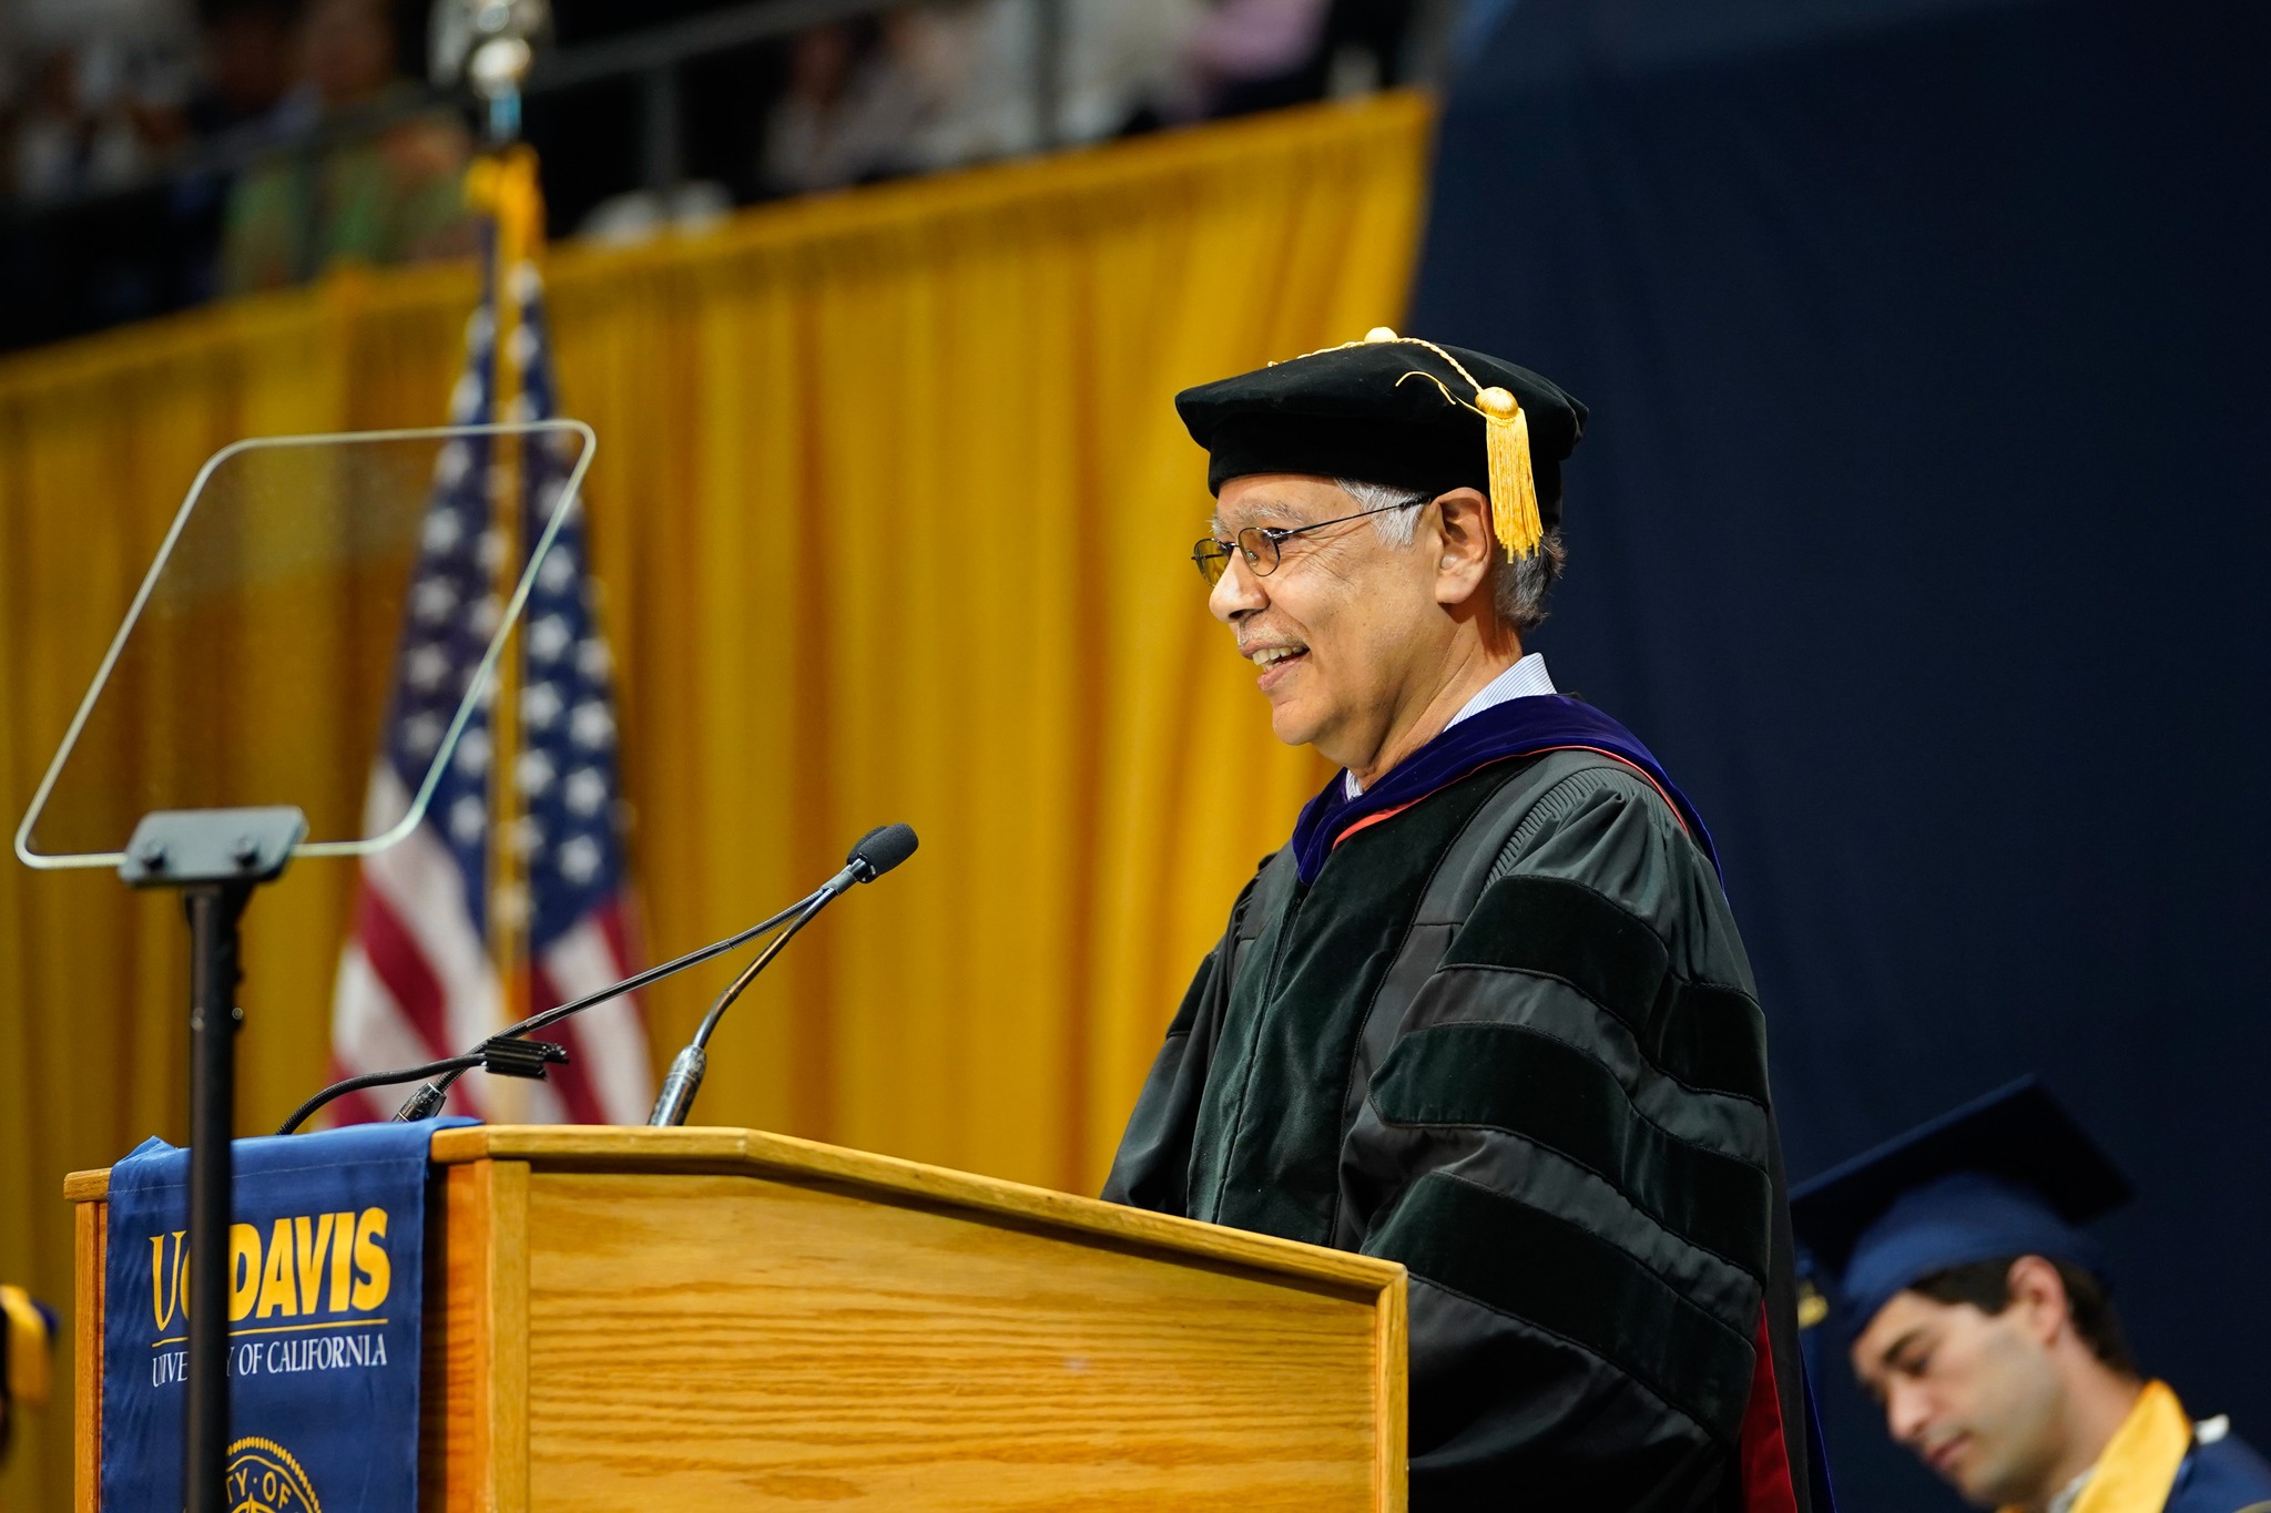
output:
[[[1394,1261],[1149,1214],[1022,1182],[799,1141],[761,1130],[647,1130],[622,1125],[468,1125],[434,1134],[434,1164],[527,1161],[536,1170],[645,1170],[747,1175],[827,1186],[879,1202],[990,1214],[1020,1227],[1074,1232],[1131,1250],[1170,1252],[1272,1273],[1331,1293],[1374,1298],[1403,1268]],[[109,1170],[64,1180],[70,1202],[102,1202]]]

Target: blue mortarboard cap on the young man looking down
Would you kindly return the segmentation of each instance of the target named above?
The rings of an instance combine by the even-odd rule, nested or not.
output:
[[[2128,1198],[2098,1143],[2021,1077],[1799,1184],[1790,1220],[1851,1338],[1951,1266],[2037,1254],[2105,1279],[2080,1225]]]

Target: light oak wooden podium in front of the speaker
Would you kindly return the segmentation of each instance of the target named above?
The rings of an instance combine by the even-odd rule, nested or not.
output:
[[[1403,1508],[1403,1268],[752,1130],[434,1136],[420,1508]],[[77,1508],[109,1173],[77,1173]]]

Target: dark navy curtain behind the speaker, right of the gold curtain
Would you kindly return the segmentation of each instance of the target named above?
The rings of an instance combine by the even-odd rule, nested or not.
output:
[[[1792,1173],[2044,1073],[2271,1447],[2271,5],[1499,9],[1410,329],[1592,406],[1540,646],[1719,839]],[[1835,1366],[1844,1506],[1955,1506]]]

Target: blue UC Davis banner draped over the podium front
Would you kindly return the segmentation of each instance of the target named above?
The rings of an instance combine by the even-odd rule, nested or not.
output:
[[[229,1225],[229,1506],[416,1513],[427,1143],[354,1125],[236,1141]],[[102,1506],[179,1508],[188,1368],[188,1152],[111,1168]]]

